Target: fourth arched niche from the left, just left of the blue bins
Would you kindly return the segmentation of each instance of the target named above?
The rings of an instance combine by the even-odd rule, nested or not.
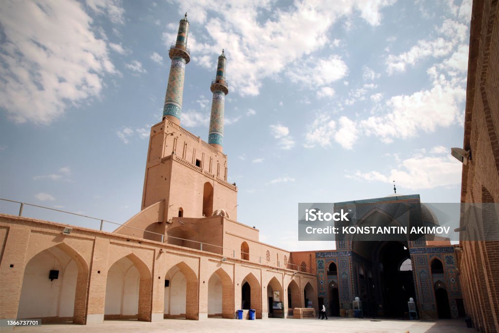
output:
[[[234,318],[234,288],[229,275],[219,268],[208,281],[208,317]]]

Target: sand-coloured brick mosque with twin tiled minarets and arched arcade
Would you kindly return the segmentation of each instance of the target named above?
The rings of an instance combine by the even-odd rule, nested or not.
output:
[[[497,12],[497,1],[493,5]],[[181,126],[188,34],[186,15],[169,52],[163,117],[151,128],[141,211],[112,233],[0,215],[0,319],[76,324],[234,319],[240,309],[245,318],[250,309],[256,319],[288,318],[293,309],[317,311],[323,304],[332,316],[351,317],[358,297],[363,316],[408,318],[407,303],[413,298],[421,319],[472,315],[480,321],[483,299],[475,301],[472,295],[480,278],[470,269],[473,254],[466,248],[462,254],[447,240],[352,237],[337,240],[336,250],[290,252],[260,242],[257,229],[238,222],[238,187],[228,182],[229,161],[223,153],[227,58],[224,52],[219,56],[210,87],[205,142]],[[465,140],[474,137],[470,133]],[[498,188],[491,189],[490,197],[497,196]],[[407,221],[387,208],[393,203],[421,205],[421,200],[400,195],[335,207],[355,206],[366,223],[397,220],[404,225]],[[422,215],[423,221],[437,223],[424,207]],[[497,258],[494,246],[484,244],[481,251],[495,251],[486,254]],[[497,275],[486,280],[494,287]],[[495,320],[477,328],[495,332],[490,330]]]

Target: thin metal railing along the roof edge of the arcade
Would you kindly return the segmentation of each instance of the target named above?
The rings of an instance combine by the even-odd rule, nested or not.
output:
[[[116,223],[116,222],[113,222],[113,221],[104,220],[104,219],[100,219],[100,218],[96,218],[96,217],[92,217],[92,216],[88,216],[88,215],[83,215],[83,214],[78,214],[78,213],[72,213],[72,212],[68,212],[68,211],[63,211],[63,210],[60,210],[60,209],[55,209],[55,208],[50,208],[50,207],[45,207],[45,206],[39,206],[39,205],[34,205],[34,204],[28,204],[28,203],[25,203],[25,202],[20,202],[20,201],[15,201],[15,200],[9,200],[9,199],[2,199],[2,198],[0,198],[0,201],[6,201],[6,202],[12,202],[12,203],[19,204],[18,216],[23,216],[22,214],[23,214],[25,206],[31,206],[31,207],[46,209],[46,210],[50,210],[50,211],[55,211],[55,212],[64,213],[64,214],[70,214],[70,215],[74,215],[74,216],[78,216],[78,217],[83,217],[83,218],[87,218],[87,219],[99,221],[100,222],[100,226],[99,226],[98,230],[100,230],[100,231],[104,231],[103,230],[104,223],[110,223],[110,224],[116,225],[118,227],[130,228],[130,229],[133,229],[133,230],[141,231],[143,233],[148,233],[150,235],[156,235],[158,241],[161,242],[161,243],[166,243],[166,244],[169,244],[169,245],[182,246],[182,247],[185,247],[185,248],[195,249],[195,250],[200,250],[200,251],[211,252],[211,253],[222,255],[224,257],[227,256],[228,254],[230,254],[230,256],[232,255],[232,258],[234,258],[234,259],[241,259],[241,260],[245,260],[245,261],[248,261],[248,262],[253,262],[253,263],[258,263],[258,264],[264,264],[264,265],[273,266],[273,267],[282,267],[282,268],[285,268],[285,269],[290,269],[290,270],[293,270],[293,271],[301,272],[301,267],[299,267],[298,265],[295,265],[295,264],[292,264],[292,263],[289,263],[289,262],[287,262],[286,265],[284,265],[284,263],[282,261],[277,261],[277,260],[267,261],[266,257],[265,257],[265,259],[263,259],[263,257],[256,256],[254,253],[248,253],[248,252],[243,252],[241,250],[235,250],[235,249],[223,247],[223,246],[220,246],[220,245],[215,245],[215,244],[210,244],[210,243],[205,243],[205,242],[200,242],[200,241],[194,241],[194,240],[180,238],[180,237],[168,236],[168,235],[164,235],[164,234],[159,234],[159,233],[155,233],[155,232],[152,232],[152,231],[148,231],[148,230],[144,230],[144,229],[135,228],[135,227],[127,226],[127,225],[124,225],[124,224]],[[90,229],[96,229],[96,228],[91,228],[90,227]],[[130,236],[130,235],[124,235],[124,234],[119,234],[119,233],[116,233],[116,234],[120,235],[120,236]],[[170,239],[172,241],[170,241]],[[154,241],[153,239],[149,239],[149,240]],[[210,250],[210,249],[213,249],[213,250]],[[228,250],[228,251],[224,252],[224,250]],[[246,257],[247,259],[245,259],[244,257]],[[305,273],[311,273],[310,267],[308,267],[308,266],[306,267],[306,272]]]

